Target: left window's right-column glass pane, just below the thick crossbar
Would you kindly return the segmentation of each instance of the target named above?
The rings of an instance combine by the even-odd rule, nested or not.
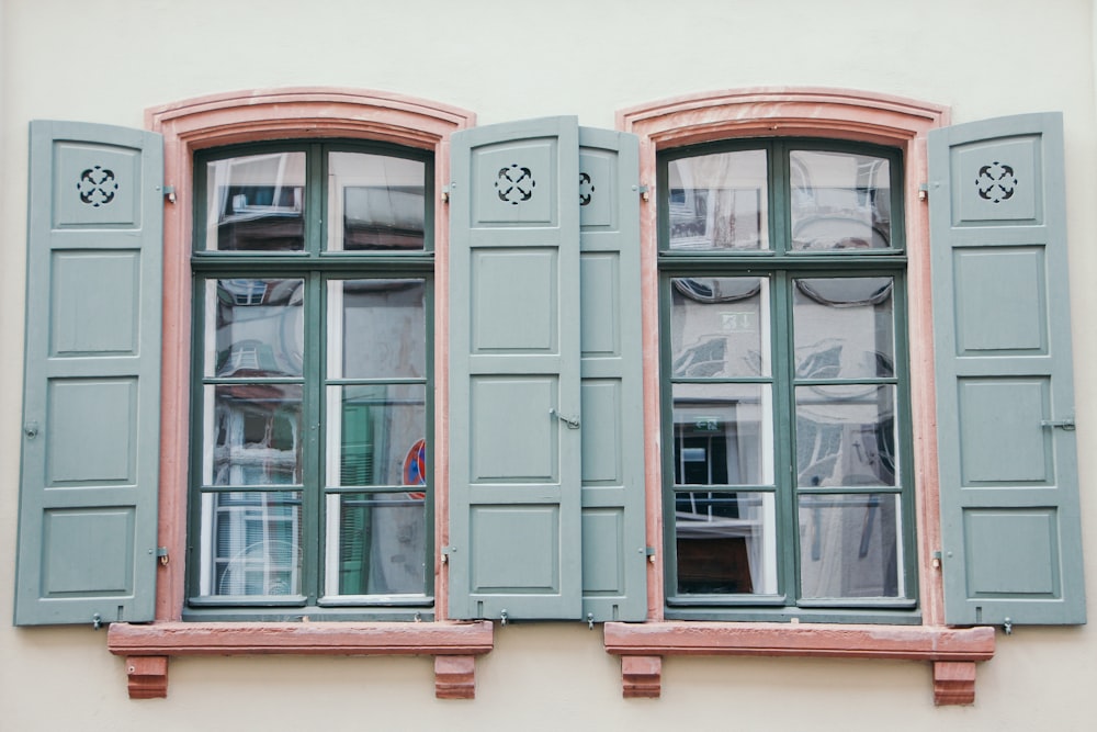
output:
[[[329,282],[329,376],[422,379],[427,373],[426,297],[422,280]]]

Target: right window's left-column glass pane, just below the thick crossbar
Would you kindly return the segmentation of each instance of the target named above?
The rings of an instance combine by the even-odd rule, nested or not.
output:
[[[769,280],[678,278],[670,289],[675,376],[768,376]]]

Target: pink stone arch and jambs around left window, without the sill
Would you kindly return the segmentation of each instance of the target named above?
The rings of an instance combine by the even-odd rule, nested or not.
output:
[[[194,153],[210,147],[284,138],[359,138],[395,143],[434,154],[434,190],[449,182],[450,135],[475,124],[475,115],[452,106],[357,90],[281,89],[203,97],[148,110],[149,128],[163,135],[165,184],[176,201],[163,216],[163,371],[160,424],[160,543],[169,561],[157,582],[157,620],[179,620],[184,601],[189,391],[191,333],[192,216]],[[446,246],[449,211],[441,195],[434,203],[436,380],[438,414],[446,414],[448,348]],[[436,420],[436,531],[444,545],[445,440]],[[444,577],[436,567],[436,598],[443,605]],[[444,617],[444,615],[442,616]]]

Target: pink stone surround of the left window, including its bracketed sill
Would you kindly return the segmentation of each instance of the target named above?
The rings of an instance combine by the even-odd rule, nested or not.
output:
[[[411,97],[355,89],[294,88],[240,91],[191,99],[146,112],[146,126],[163,135],[163,348],[161,371],[159,567],[156,622],[114,623],[108,647],[126,656],[133,698],[167,696],[168,664],[177,655],[281,653],[305,655],[415,654],[436,656],[436,694],[468,698],[474,658],[493,647],[489,622],[446,622],[446,577],[434,566],[433,623],[184,623],[191,364],[191,241],[194,154],[270,139],[357,138],[394,143],[434,155],[436,504],[437,545],[448,541],[444,415],[448,413],[448,234],[441,191],[449,182],[450,136],[472,127],[472,112]],[[276,638],[274,644],[271,639]]]

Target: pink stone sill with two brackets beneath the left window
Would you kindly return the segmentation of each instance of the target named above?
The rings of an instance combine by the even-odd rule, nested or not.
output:
[[[168,696],[168,658],[216,655],[432,655],[434,696],[472,699],[476,656],[495,644],[493,626],[417,623],[113,623],[111,653],[126,660],[131,699]]]

